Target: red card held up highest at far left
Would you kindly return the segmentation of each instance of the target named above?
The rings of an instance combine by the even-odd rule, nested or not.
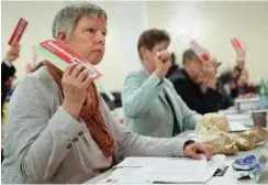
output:
[[[27,26],[27,21],[21,18],[15,26],[13,34],[10,37],[9,41],[10,46],[13,46],[20,42],[21,36],[24,33],[26,26]]]

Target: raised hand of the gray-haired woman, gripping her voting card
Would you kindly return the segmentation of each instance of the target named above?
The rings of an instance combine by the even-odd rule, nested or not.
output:
[[[88,69],[82,65],[70,64],[63,75],[64,109],[75,119],[79,117],[81,107],[86,100],[87,88],[92,79]]]

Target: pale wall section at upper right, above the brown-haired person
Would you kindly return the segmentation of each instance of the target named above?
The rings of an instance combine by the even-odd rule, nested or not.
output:
[[[148,26],[166,29],[172,37],[188,35],[176,42],[179,63],[194,39],[224,63],[222,69],[232,67],[235,52],[230,39],[236,36],[246,43],[250,79],[268,78],[268,2],[150,1],[147,8]]]

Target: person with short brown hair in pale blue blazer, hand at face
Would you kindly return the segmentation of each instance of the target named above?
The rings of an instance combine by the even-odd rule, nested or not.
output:
[[[138,39],[137,50],[143,67],[126,76],[122,92],[124,120],[132,132],[170,138],[194,129],[201,117],[187,107],[165,78],[171,58],[163,50],[169,43],[168,33],[157,29],[143,32]],[[160,53],[167,54],[166,57],[161,58]]]

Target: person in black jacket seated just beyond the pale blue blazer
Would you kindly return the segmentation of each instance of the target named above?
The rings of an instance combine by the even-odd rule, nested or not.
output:
[[[216,63],[202,63],[192,50],[183,53],[182,62],[183,68],[169,79],[190,109],[204,115],[233,106],[233,100],[216,89]]]

